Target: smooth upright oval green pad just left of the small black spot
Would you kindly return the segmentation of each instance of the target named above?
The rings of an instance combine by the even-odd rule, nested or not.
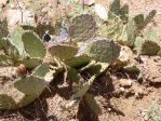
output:
[[[46,51],[41,39],[32,31],[26,31],[23,33],[22,40],[24,42],[25,50],[30,57],[42,58],[45,56]]]

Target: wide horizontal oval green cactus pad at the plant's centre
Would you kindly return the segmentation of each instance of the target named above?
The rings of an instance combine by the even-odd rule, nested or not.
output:
[[[52,56],[56,56],[61,59],[70,59],[77,54],[78,49],[76,45],[57,44],[50,46],[48,51]]]

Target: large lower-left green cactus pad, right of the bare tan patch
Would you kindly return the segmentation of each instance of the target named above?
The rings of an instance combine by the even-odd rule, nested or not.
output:
[[[42,91],[48,86],[44,80],[35,78],[33,76],[23,78],[14,83],[14,88],[22,92],[25,96],[17,104],[18,107],[30,104],[40,96]]]

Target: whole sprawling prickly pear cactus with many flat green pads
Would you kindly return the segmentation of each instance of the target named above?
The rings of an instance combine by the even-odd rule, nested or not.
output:
[[[64,108],[79,104],[82,97],[96,106],[94,96],[88,91],[96,77],[109,66],[128,65],[134,54],[161,55],[161,44],[155,31],[143,32],[156,11],[146,17],[142,14],[130,17],[128,13],[128,5],[120,8],[120,1],[113,0],[108,22],[95,21],[93,14],[73,16],[67,28],[69,38],[61,42],[54,39],[44,41],[39,35],[43,31],[39,30],[43,28],[40,25],[18,26],[10,31],[6,19],[1,21],[0,109],[15,109],[30,104],[58,72],[64,72],[65,81],[77,83],[71,103]],[[124,49],[133,52],[125,53]],[[82,77],[84,71],[90,78]]]

